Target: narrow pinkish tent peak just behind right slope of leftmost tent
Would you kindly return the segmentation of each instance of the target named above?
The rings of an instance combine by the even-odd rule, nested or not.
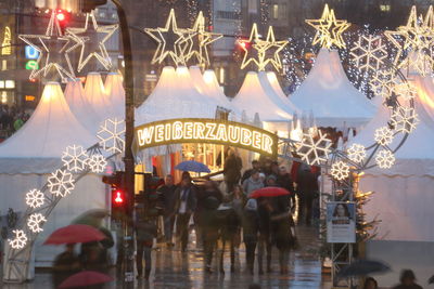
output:
[[[75,79],[66,83],[65,100],[77,120],[79,120],[89,132],[97,133],[100,120],[88,102],[88,98],[85,96],[80,79]]]

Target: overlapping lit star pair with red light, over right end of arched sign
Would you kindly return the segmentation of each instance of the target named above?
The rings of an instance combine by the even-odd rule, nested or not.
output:
[[[256,23],[253,24],[248,40],[238,40],[241,49],[244,51],[241,69],[244,69],[248,64],[253,63],[259,71],[265,70],[268,64],[271,64],[276,70],[282,69],[279,53],[288,44],[288,41],[276,41],[275,31],[270,26],[268,28],[267,39],[261,40],[258,35]],[[273,51],[272,53],[269,53]],[[272,56],[269,56],[271,54]]]

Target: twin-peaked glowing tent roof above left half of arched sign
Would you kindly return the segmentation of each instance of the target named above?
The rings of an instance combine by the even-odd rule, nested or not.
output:
[[[189,69],[164,67],[159,80],[144,103],[137,108],[138,124],[174,118],[214,118],[218,103],[201,94]]]

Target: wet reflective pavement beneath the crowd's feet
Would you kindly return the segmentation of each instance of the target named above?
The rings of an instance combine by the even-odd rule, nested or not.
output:
[[[226,255],[225,274],[217,270],[215,264],[213,274],[205,274],[203,271],[203,254],[201,250],[190,248],[187,253],[167,248],[153,251],[153,271],[149,281],[139,280],[135,288],[248,288],[252,283],[257,283],[261,288],[331,288],[330,276],[321,274],[321,264],[318,259],[318,232],[314,227],[297,227],[299,248],[291,252],[290,273],[280,275],[278,264],[278,251],[273,248],[272,272],[252,276],[245,272],[245,251],[241,246],[237,261],[235,272],[230,272],[229,253]],[[194,247],[192,244],[191,247]],[[216,263],[216,262],[215,262]],[[114,276],[115,277],[115,276]],[[105,285],[104,288],[124,288],[119,278],[116,281]],[[25,285],[2,285],[4,289],[50,289],[51,275],[37,273],[35,280]],[[125,287],[127,288],[127,287]]]

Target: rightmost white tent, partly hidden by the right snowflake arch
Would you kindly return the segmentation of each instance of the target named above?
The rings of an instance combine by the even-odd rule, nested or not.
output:
[[[430,194],[434,182],[434,122],[419,98],[416,109],[420,123],[395,153],[396,163],[391,169],[366,171],[360,183],[362,191],[375,192],[365,210],[369,218],[382,220],[379,237],[385,240],[434,241],[434,194]],[[386,126],[388,119],[387,109],[380,108],[352,143],[373,144],[374,130]],[[399,140],[391,147],[395,148]]]

